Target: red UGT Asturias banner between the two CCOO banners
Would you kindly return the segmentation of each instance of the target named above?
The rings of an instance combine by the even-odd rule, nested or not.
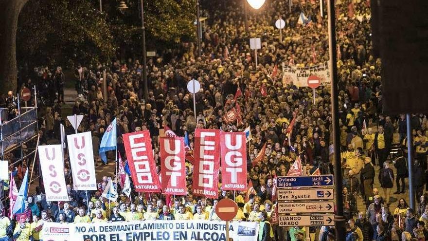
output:
[[[186,195],[183,137],[160,137],[160,173],[162,193]]]

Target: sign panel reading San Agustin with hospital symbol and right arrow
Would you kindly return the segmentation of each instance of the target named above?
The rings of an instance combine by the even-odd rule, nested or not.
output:
[[[277,189],[278,201],[303,201],[303,200],[333,200],[333,188],[325,189]]]

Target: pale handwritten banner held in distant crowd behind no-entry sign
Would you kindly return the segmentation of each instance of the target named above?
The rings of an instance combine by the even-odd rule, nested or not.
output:
[[[293,82],[297,87],[308,87],[307,78],[316,75],[320,78],[321,85],[330,84],[330,72],[328,65],[320,64],[310,67],[288,66],[283,63],[283,86]]]

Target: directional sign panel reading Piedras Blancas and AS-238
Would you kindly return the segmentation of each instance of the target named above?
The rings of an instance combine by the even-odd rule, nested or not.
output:
[[[292,202],[278,203],[281,213],[330,213],[334,212],[334,202]]]

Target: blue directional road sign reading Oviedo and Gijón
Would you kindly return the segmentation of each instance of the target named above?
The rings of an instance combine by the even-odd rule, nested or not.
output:
[[[333,186],[333,175],[277,177],[276,183],[279,188]]]

